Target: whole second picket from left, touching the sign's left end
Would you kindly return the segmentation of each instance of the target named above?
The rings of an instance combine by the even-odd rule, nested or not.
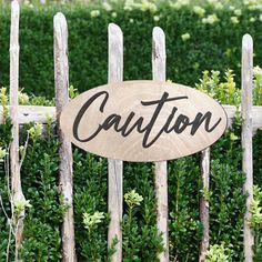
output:
[[[69,66],[68,66],[68,26],[62,13],[53,18],[53,51],[54,51],[54,81],[56,81],[56,108],[58,119],[59,149],[59,185],[64,204],[69,206],[63,215],[61,228],[62,258],[63,261],[75,261],[74,228],[73,228],[73,172],[72,172],[72,148],[59,125],[62,109],[69,102]]]

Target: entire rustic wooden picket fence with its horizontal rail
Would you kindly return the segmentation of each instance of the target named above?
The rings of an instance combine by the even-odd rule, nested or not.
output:
[[[11,6],[11,33],[10,33],[10,117],[12,120],[12,135],[10,160],[11,160],[11,201],[23,200],[22,181],[19,165],[19,124],[36,121],[46,123],[47,113],[57,120],[63,107],[69,101],[69,66],[68,66],[68,28],[67,20],[62,13],[57,13],[53,19],[54,32],[54,80],[56,80],[56,108],[54,107],[32,107],[18,104],[19,88],[19,3]],[[123,36],[121,29],[113,23],[108,28],[108,50],[109,69],[108,82],[119,82],[123,80]],[[244,254],[245,261],[252,261],[253,235],[249,228],[250,203],[253,198],[253,175],[252,175],[252,134],[256,129],[262,129],[262,107],[252,105],[252,70],[253,70],[253,42],[249,34],[243,37],[242,42],[242,149],[243,149],[243,172],[246,180],[243,192],[248,192],[246,212],[244,215]],[[155,27],[152,33],[152,73],[153,80],[165,81],[165,37],[161,28]],[[32,75],[33,77],[33,75]],[[236,108],[223,105],[228,113],[229,124],[232,123]],[[2,123],[2,108],[0,108],[0,123]],[[60,193],[63,195],[66,204],[70,208],[63,216],[61,228],[62,258],[63,261],[75,261],[74,251],[74,229],[73,229],[73,192],[72,192],[72,152],[71,143],[59,128],[58,133],[61,141],[60,147],[60,169],[59,184]],[[201,177],[203,187],[209,189],[210,175],[210,149],[201,152]],[[167,161],[155,162],[155,196],[157,196],[157,223],[159,232],[163,233],[163,244],[165,251],[159,254],[161,262],[169,261],[169,230],[168,230],[168,164]],[[120,160],[108,160],[108,212],[111,221],[108,232],[108,245],[117,236],[119,242],[117,252],[112,261],[122,260],[122,205],[123,205],[123,162]],[[16,235],[16,261],[18,261],[18,250],[22,241],[23,213],[19,215],[18,231]],[[204,261],[205,252],[209,248],[209,202],[204,198],[200,202],[200,219],[203,223],[203,236],[200,243],[199,261]]]

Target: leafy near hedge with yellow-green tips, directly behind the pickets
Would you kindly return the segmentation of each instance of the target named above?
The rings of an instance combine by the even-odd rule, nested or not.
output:
[[[239,103],[240,92],[234,88],[232,72],[228,71],[221,80],[218,72],[204,72],[198,89],[208,92],[222,103]],[[255,82],[262,78],[262,72]],[[209,88],[212,87],[212,90]],[[256,85],[255,85],[256,87]],[[261,89],[261,85],[260,85]],[[220,90],[220,92],[218,92]],[[255,88],[255,90],[259,90]],[[0,100],[7,101],[1,89]],[[255,93],[258,94],[258,93]],[[23,97],[26,98],[26,95]],[[31,98],[26,103],[49,104],[43,98]],[[202,224],[199,218],[200,196],[210,202],[210,254],[222,255],[221,251],[231,253],[232,261],[243,259],[243,214],[245,196],[242,194],[244,174],[241,172],[241,130],[240,119],[232,129],[211,148],[210,190],[203,190],[200,179],[200,154],[169,161],[169,245],[170,259],[173,261],[198,261]],[[0,125],[0,196],[6,213],[11,216],[8,191],[8,169],[2,150],[8,150],[11,141],[10,122]],[[29,137],[27,135],[29,133]],[[67,206],[59,196],[58,169],[59,142],[56,124],[49,122],[47,131],[40,135],[40,125],[30,123],[21,130],[20,144],[28,140],[27,151],[21,149],[24,161],[21,168],[22,189],[30,201],[24,220],[24,234],[20,258],[23,261],[58,262],[61,259],[61,239],[59,229]],[[254,181],[262,188],[262,131],[254,137]],[[24,154],[26,153],[26,154]],[[124,163],[124,193],[135,190],[143,200],[140,205],[130,209],[124,202],[123,215],[123,261],[158,261],[157,254],[162,250],[161,238],[157,233],[155,195],[153,169],[150,163]],[[74,228],[78,261],[110,261],[113,252],[107,251],[107,229],[110,220],[107,209],[108,179],[107,160],[79,149],[73,149],[73,200]],[[262,258],[262,193],[255,198],[256,208],[252,212],[252,229],[255,232],[255,260]],[[1,206],[2,208],[2,206]],[[103,212],[101,223],[87,229],[83,214]],[[16,218],[16,216],[14,216]],[[0,209],[0,261],[6,260],[8,243],[9,256],[13,260],[14,241],[9,240],[9,224]],[[215,248],[212,248],[215,246]],[[222,248],[221,248],[222,246]],[[224,251],[225,252],[225,251]],[[224,254],[226,256],[226,254]],[[218,261],[210,259],[209,261]],[[231,260],[225,260],[231,261]]]

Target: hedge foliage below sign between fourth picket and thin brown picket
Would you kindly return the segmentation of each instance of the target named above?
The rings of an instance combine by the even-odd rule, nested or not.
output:
[[[199,219],[199,158],[188,157],[169,163],[169,210],[171,258],[195,261],[202,225]],[[192,206],[195,206],[192,209]]]

